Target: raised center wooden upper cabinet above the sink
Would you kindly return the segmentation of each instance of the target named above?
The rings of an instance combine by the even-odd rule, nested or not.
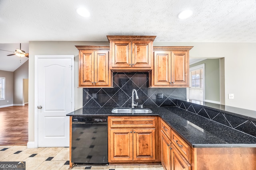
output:
[[[107,36],[110,42],[110,69],[149,71],[153,69],[153,41],[156,36]]]

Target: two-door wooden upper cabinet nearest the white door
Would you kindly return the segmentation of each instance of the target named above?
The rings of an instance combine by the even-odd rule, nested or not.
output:
[[[79,87],[111,87],[109,46],[76,46],[79,50]]]

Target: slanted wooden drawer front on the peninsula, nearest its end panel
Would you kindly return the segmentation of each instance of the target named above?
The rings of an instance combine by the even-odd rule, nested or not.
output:
[[[190,146],[183,139],[181,139],[173,130],[171,131],[171,142],[180,151],[184,158],[186,158],[186,160],[190,162]]]

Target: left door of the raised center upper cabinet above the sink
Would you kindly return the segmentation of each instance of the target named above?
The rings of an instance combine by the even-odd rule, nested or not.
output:
[[[131,67],[131,41],[112,41],[111,48],[112,67]]]

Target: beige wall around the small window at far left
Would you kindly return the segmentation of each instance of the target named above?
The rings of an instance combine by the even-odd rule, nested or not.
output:
[[[13,104],[13,72],[0,70],[0,77],[5,77],[5,100],[0,100],[0,107]],[[7,102],[8,101],[8,102]]]

